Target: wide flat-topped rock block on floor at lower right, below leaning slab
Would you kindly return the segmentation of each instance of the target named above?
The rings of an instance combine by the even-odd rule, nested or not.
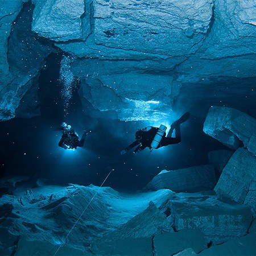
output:
[[[201,230],[207,241],[214,244],[247,234],[253,219],[247,205],[230,200],[224,203],[216,196],[184,196],[170,204],[175,230]]]

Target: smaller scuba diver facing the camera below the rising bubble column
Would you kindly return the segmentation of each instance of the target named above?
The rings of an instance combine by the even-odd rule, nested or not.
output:
[[[74,129],[71,129],[71,125],[67,125],[67,123],[61,123],[61,131],[62,136],[59,142],[59,146],[64,149],[73,149],[77,147],[84,146],[86,135],[89,131],[85,130],[84,134],[82,134],[82,138],[79,141],[79,136],[75,132]]]

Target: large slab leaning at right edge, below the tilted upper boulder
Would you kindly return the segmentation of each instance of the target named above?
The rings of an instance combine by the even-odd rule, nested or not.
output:
[[[214,188],[218,197],[229,197],[256,211],[256,156],[238,148],[222,171]]]

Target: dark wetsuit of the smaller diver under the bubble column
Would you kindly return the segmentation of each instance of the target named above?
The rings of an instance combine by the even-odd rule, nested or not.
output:
[[[82,138],[79,141],[79,137],[76,135],[75,131],[63,131],[63,134],[59,142],[59,146],[64,149],[82,147],[84,146],[85,138],[86,133],[82,135]]]

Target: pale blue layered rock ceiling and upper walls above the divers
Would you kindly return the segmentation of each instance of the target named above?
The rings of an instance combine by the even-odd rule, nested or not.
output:
[[[49,49],[44,51],[33,68],[15,67],[10,72],[15,65],[8,60],[8,40],[20,43],[11,28],[23,2],[4,1],[1,10],[0,28],[6,30],[0,47],[1,120],[15,116],[30,89],[28,82],[49,54]],[[46,45],[52,42],[71,54],[72,71],[81,80],[81,98],[95,109],[116,112],[119,119],[143,119],[145,113],[147,119],[155,111],[148,101],[160,102],[154,118],[164,118],[164,106],[171,107],[188,83],[190,92],[198,84],[207,92],[212,80],[220,77],[221,81],[255,77],[253,2],[34,0],[32,4],[29,30],[45,38]],[[143,113],[134,112],[138,105]]]

